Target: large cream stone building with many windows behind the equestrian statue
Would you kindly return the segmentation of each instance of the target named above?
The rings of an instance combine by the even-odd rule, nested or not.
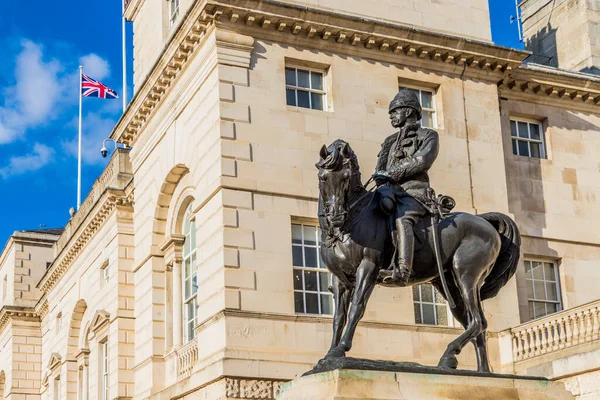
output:
[[[331,340],[318,150],[349,141],[369,176],[400,87],[440,133],[437,191],[523,235],[484,303],[494,370],[599,396],[599,78],[493,44],[487,0],[131,0],[126,17],[136,93],[111,137],[130,148],[64,231],[0,256],[3,396],[274,398]],[[351,355],[436,364],[461,330],[431,286],[377,288]]]

